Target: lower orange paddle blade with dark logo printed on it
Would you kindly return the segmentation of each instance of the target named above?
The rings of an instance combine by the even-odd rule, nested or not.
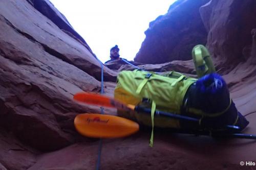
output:
[[[139,130],[139,125],[132,120],[94,113],[78,114],[74,125],[81,135],[94,138],[124,137]]]

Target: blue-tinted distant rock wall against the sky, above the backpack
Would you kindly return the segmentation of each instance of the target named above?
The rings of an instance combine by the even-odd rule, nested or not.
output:
[[[207,32],[199,8],[209,0],[178,0],[168,12],[150,23],[134,61],[159,64],[173,60],[190,60],[191,50],[205,44]]]

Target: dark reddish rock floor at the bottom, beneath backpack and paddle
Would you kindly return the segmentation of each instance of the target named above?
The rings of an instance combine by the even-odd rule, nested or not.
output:
[[[148,147],[150,133],[129,138],[103,140],[101,169],[241,169],[240,161],[230,162],[232,153],[223,155],[228,142],[193,135],[156,134],[154,148]],[[200,139],[198,139],[200,138]],[[204,145],[201,145],[203,141]],[[223,144],[224,143],[224,144]],[[237,148],[233,141],[231,148]],[[211,145],[221,147],[211,148]],[[230,143],[229,143],[230,144]],[[65,149],[41,155],[29,168],[34,169],[95,169],[99,142],[77,143]],[[252,145],[252,144],[251,144]],[[210,149],[211,148],[211,149]],[[208,150],[209,152],[205,152]],[[228,152],[226,152],[228,153]],[[218,154],[218,155],[217,155]],[[58,161],[54,159],[58,159]],[[214,158],[214,159],[212,159]],[[243,157],[249,159],[248,157]],[[230,158],[231,159],[231,158]],[[249,166],[243,169],[251,169]]]

